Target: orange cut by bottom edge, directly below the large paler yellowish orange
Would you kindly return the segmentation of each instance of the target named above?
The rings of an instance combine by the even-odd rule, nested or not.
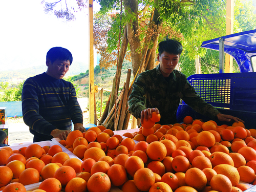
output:
[[[222,192],[230,192],[232,189],[232,183],[227,176],[218,174],[210,180],[211,190],[217,190]]]

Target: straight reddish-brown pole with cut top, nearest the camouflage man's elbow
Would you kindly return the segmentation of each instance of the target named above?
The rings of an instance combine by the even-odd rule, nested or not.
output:
[[[129,69],[127,72],[127,77],[126,77],[126,84],[125,84],[125,90],[124,90],[124,94],[123,94],[123,103],[122,103],[122,110],[121,110],[121,116],[120,116],[120,121],[119,121],[119,125],[118,125],[118,130],[122,130],[123,127],[123,121],[124,121],[124,117],[125,117],[125,110],[126,110],[126,105],[127,105],[127,96],[128,96],[128,92],[129,92],[129,83],[130,83],[130,79],[131,79],[131,74],[132,74],[132,70]]]

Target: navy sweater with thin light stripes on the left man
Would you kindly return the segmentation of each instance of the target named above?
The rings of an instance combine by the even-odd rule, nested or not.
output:
[[[44,140],[53,138],[54,129],[71,130],[71,120],[74,124],[83,122],[73,84],[46,73],[24,82],[22,111],[30,132]]]

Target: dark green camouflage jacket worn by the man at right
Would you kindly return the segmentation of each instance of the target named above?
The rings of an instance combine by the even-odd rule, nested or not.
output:
[[[159,123],[172,124],[177,122],[176,114],[180,99],[196,112],[211,119],[215,119],[220,113],[197,95],[183,73],[174,70],[169,77],[164,78],[159,65],[139,74],[129,96],[128,110],[133,116],[140,118],[141,111],[157,108],[161,114]]]

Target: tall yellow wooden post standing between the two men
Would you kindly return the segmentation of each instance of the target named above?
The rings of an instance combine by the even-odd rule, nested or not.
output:
[[[93,0],[89,0],[89,123],[94,123]]]

